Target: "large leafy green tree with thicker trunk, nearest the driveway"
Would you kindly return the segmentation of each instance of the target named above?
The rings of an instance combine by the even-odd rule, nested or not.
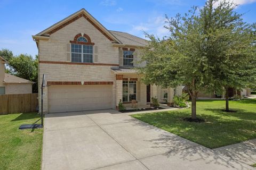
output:
[[[216,2],[209,0],[200,10],[193,7],[184,16],[177,14],[174,18],[167,18],[168,39],[160,40],[154,35],[147,35],[149,45],[142,53],[141,61],[147,62],[139,70],[142,81],[163,87],[186,85],[192,101],[192,119],[196,119],[198,91],[217,85],[221,87],[217,82],[222,80],[215,69],[220,61],[227,62],[221,58],[228,50],[232,51],[227,46],[236,35],[230,25],[242,20],[241,15],[234,12],[233,4],[224,2],[213,7]]]

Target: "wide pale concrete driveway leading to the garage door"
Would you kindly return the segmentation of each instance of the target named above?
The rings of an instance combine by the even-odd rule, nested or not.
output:
[[[254,169],[114,110],[45,115],[42,169]]]

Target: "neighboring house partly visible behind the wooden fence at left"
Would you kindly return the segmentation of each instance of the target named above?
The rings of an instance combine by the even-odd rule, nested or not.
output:
[[[31,94],[34,82],[5,73],[4,64],[7,63],[0,57],[0,95]]]

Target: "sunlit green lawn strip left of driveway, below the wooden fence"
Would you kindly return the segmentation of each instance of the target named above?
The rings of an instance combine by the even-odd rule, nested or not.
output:
[[[43,129],[18,129],[39,119],[36,113],[0,115],[0,169],[41,169]]]

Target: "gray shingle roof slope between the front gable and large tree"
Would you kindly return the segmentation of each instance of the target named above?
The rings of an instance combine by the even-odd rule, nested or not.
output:
[[[125,45],[133,45],[133,46],[146,46],[147,40],[133,36],[130,33],[119,32],[119,31],[110,31],[119,41],[121,41]]]

